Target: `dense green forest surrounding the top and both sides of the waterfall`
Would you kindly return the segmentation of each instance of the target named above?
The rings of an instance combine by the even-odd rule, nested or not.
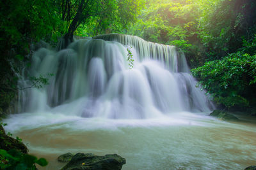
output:
[[[202,89],[230,110],[256,106],[255,0],[3,0],[0,2],[0,113],[29,77],[31,54],[44,42],[75,36],[131,34],[175,45]],[[47,77],[31,76],[32,87]]]

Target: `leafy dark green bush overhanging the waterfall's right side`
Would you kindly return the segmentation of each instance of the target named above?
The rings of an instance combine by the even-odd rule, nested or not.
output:
[[[252,43],[254,40],[249,44]],[[206,62],[202,67],[192,69],[191,73],[199,78],[202,88],[214,97],[216,103],[228,108],[248,106],[256,92],[256,53],[231,53],[221,60]]]

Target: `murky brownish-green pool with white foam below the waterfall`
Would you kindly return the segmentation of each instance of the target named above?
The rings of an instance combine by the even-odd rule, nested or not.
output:
[[[243,169],[256,158],[256,125],[228,123],[205,113],[170,113],[159,118],[81,118],[58,112],[12,115],[7,132],[30,153],[60,169],[63,153],[125,157],[124,169]]]

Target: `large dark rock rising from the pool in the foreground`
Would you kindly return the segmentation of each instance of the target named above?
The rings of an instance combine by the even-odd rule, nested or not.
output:
[[[125,159],[116,154],[97,156],[93,153],[76,153],[61,170],[119,170],[125,164]]]

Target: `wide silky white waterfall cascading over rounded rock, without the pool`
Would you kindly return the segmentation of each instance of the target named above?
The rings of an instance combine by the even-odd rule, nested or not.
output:
[[[127,48],[134,59],[129,67]],[[131,64],[131,63],[130,63]],[[20,112],[56,111],[81,117],[156,118],[214,108],[196,88],[183,53],[136,36],[77,39],[66,49],[37,50],[32,76],[53,74],[42,89],[20,92]],[[19,87],[28,87],[26,78]]]

